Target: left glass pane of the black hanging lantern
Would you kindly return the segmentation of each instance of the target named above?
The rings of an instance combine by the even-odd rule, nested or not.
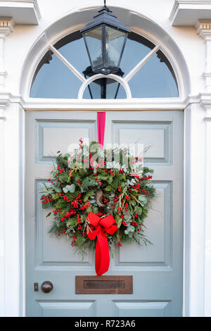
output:
[[[96,27],[94,30],[85,32],[84,36],[86,39],[92,67],[101,67],[103,65],[102,27]]]

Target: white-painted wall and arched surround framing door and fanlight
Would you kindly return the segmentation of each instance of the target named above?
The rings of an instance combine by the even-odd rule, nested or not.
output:
[[[194,1],[189,3],[195,8]],[[211,93],[205,88],[206,77],[203,77],[203,72],[210,70],[206,58],[210,54],[210,44],[207,44],[210,37],[200,37],[196,27],[172,26],[169,17],[174,0],[108,0],[108,6],[132,30],[162,44],[177,73],[181,97],[124,103],[117,100],[51,100],[50,103],[30,100],[30,80],[48,43],[91,20],[96,6],[101,6],[103,1],[37,0],[37,4],[41,13],[39,25],[14,25],[13,32],[5,32],[5,40],[0,34],[1,72],[7,72],[4,84],[0,84],[0,315],[25,314],[23,108],[62,106],[185,109],[184,316],[211,316]],[[200,15],[197,9],[194,13]],[[209,33],[208,28],[206,36]]]

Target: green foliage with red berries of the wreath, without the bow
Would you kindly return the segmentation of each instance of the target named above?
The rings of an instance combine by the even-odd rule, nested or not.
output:
[[[94,144],[97,143],[91,142],[90,146]],[[83,151],[82,160],[89,158],[89,146],[84,146]],[[110,161],[114,160],[115,153],[117,149],[113,150]],[[126,149],[120,151],[120,163],[126,153]],[[96,154],[98,163],[103,151],[96,149],[91,156]],[[42,208],[53,208],[53,213],[49,212],[46,216],[53,216],[49,232],[72,238],[72,246],[77,246],[84,256],[86,249],[94,248],[96,244],[96,240],[92,241],[87,236],[87,216],[92,211],[98,216],[111,214],[115,218],[118,230],[113,235],[107,235],[110,248],[120,242],[150,244],[144,236],[144,220],[148,215],[149,203],[155,196],[155,187],[149,176],[153,170],[144,167],[141,176],[135,177],[128,169],[95,168],[91,163],[89,168],[70,169],[69,157],[70,154],[58,152],[57,168],[51,172],[53,184],[45,185]],[[103,207],[96,204],[98,189],[103,191],[103,199],[106,199]]]

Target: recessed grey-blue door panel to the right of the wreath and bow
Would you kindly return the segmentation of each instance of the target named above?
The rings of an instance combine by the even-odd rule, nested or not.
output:
[[[172,256],[171,242],[171,182],[154,182],[157,197],[153,201],[153,209],[146,219],[146,237],[153,245],[143,246],[140,250],[137,244],[124,244],[120,247],[119,264],[136,266],[170,266]],[[133,254],[131,254],[131,250]]]

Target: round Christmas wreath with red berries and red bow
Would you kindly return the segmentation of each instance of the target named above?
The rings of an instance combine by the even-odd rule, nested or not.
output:
[[[137,172],[138,169],[138,172]],[[96,273],[109,268],[109,249],[123,242],[151,243],[144,235],[144,219],[155,196],[153,170],[127,147],[102,149],[80,140],[72,154],[58,154],[49,185],[44,185],[42,208],[53,207],[50,232],[71,238],[84,254],[96,249]]]

